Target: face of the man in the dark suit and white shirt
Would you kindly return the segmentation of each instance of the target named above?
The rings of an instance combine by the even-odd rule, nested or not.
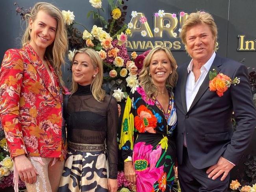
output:
[[[194,63],[205,64],[213,54],[215,38],[206,24],[197,24],[187,29],[186,48]]]

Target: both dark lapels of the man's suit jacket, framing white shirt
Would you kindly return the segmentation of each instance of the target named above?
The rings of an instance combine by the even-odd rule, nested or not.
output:
[[[200,98],[202,97],[202,95],[204,94],[204,92],[206,92],[206,90],[209,88],[209,74],[210,74],[210,71],[213,71],[216,70],[217,74],[219,73],[219,71],[221,70],[219,68],[219,66],[222,65],[222,62],[221,62],[221,57],[219,57],[219,55],[216,54],[215,56],[215,59],[210,67],[210,70],[208,71],[207,75],[206,75],[206,78],[204,79],[202,85],[200,86],[198,92],[197,92],[197,95],[195,96],[195,99],[193,100],[192,104],[191,104],[191,107],[189,108],[189,110],[187,111],[187,105],[186,105],[186,82],[187,82],[187,76],[188,76],[188,73],[187,73],[187,66],[189,65],[189,63],[187,63],[183,70],[181,71],[181,75],[182,75],[182,79],[181,79],[181,99],[182,99],[182,106],[183,106],[183,109],[184,111],[187,113],[189,112],[194,106],[195,104],[198,102],[198,100],[200,100]]]

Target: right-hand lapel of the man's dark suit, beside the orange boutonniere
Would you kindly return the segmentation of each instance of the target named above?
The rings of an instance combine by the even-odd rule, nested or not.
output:
[[[215,56],[215,59],[210,67],[210,70],[208,71],[202,85],[200,86],[198,92],[197,92],[197,95],[195,96],[195,99],[193,100],[190,108],[188,111],[190,111],[194,106],[195,104],[200,100],[200,98],[202,97],[202,95],[204,94],[204,92],[206,92],[206,90],[209,88],[209,74],[210,74],[210,71],[213,72],[214,70],[217,72],[217,74],[219,73],[219,71],[221,70],[219,68],[219,66],[221,66],[222,63],[221,63],[221,57],[219,57],[217,54]]]

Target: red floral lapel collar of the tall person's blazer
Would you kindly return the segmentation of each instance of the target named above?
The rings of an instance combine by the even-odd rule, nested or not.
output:
[[[56,100],[61,102],[61,94],[60,94],[58,77],[54,72],[54,68],[51,65],[48,65],[52,73],[52,76],[54,78],[54,83],[53,83],[52,79],[50,78],[50,75],[48,74],[45,66],[43,65],[43,62],[41,61],[37,53],[33,50],[32,46],[28,44],[25,47],[25,50],[26,50],[26,53],[28,54],[28,57],[27,57],[28,60],[35,67],[35,70],[37,70],[37,73],[39,74],[39,77],[41,79],[41,82],[43,82],[44,87],[46,87],[49,90],[49,92],[52,94],[52,96],[54,96]]]

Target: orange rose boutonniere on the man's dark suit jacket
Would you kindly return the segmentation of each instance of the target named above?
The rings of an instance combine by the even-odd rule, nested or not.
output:
[[[210,91],[216,91],[219,97],[223,96],[223,93],[226,92],[226,90],[228,90],[230,85],[237,85],[240,83],[240,78],[236,77],[232,80],[223,73],[217,74],[214,69],[213,72],[210,71],[209,78]]]

